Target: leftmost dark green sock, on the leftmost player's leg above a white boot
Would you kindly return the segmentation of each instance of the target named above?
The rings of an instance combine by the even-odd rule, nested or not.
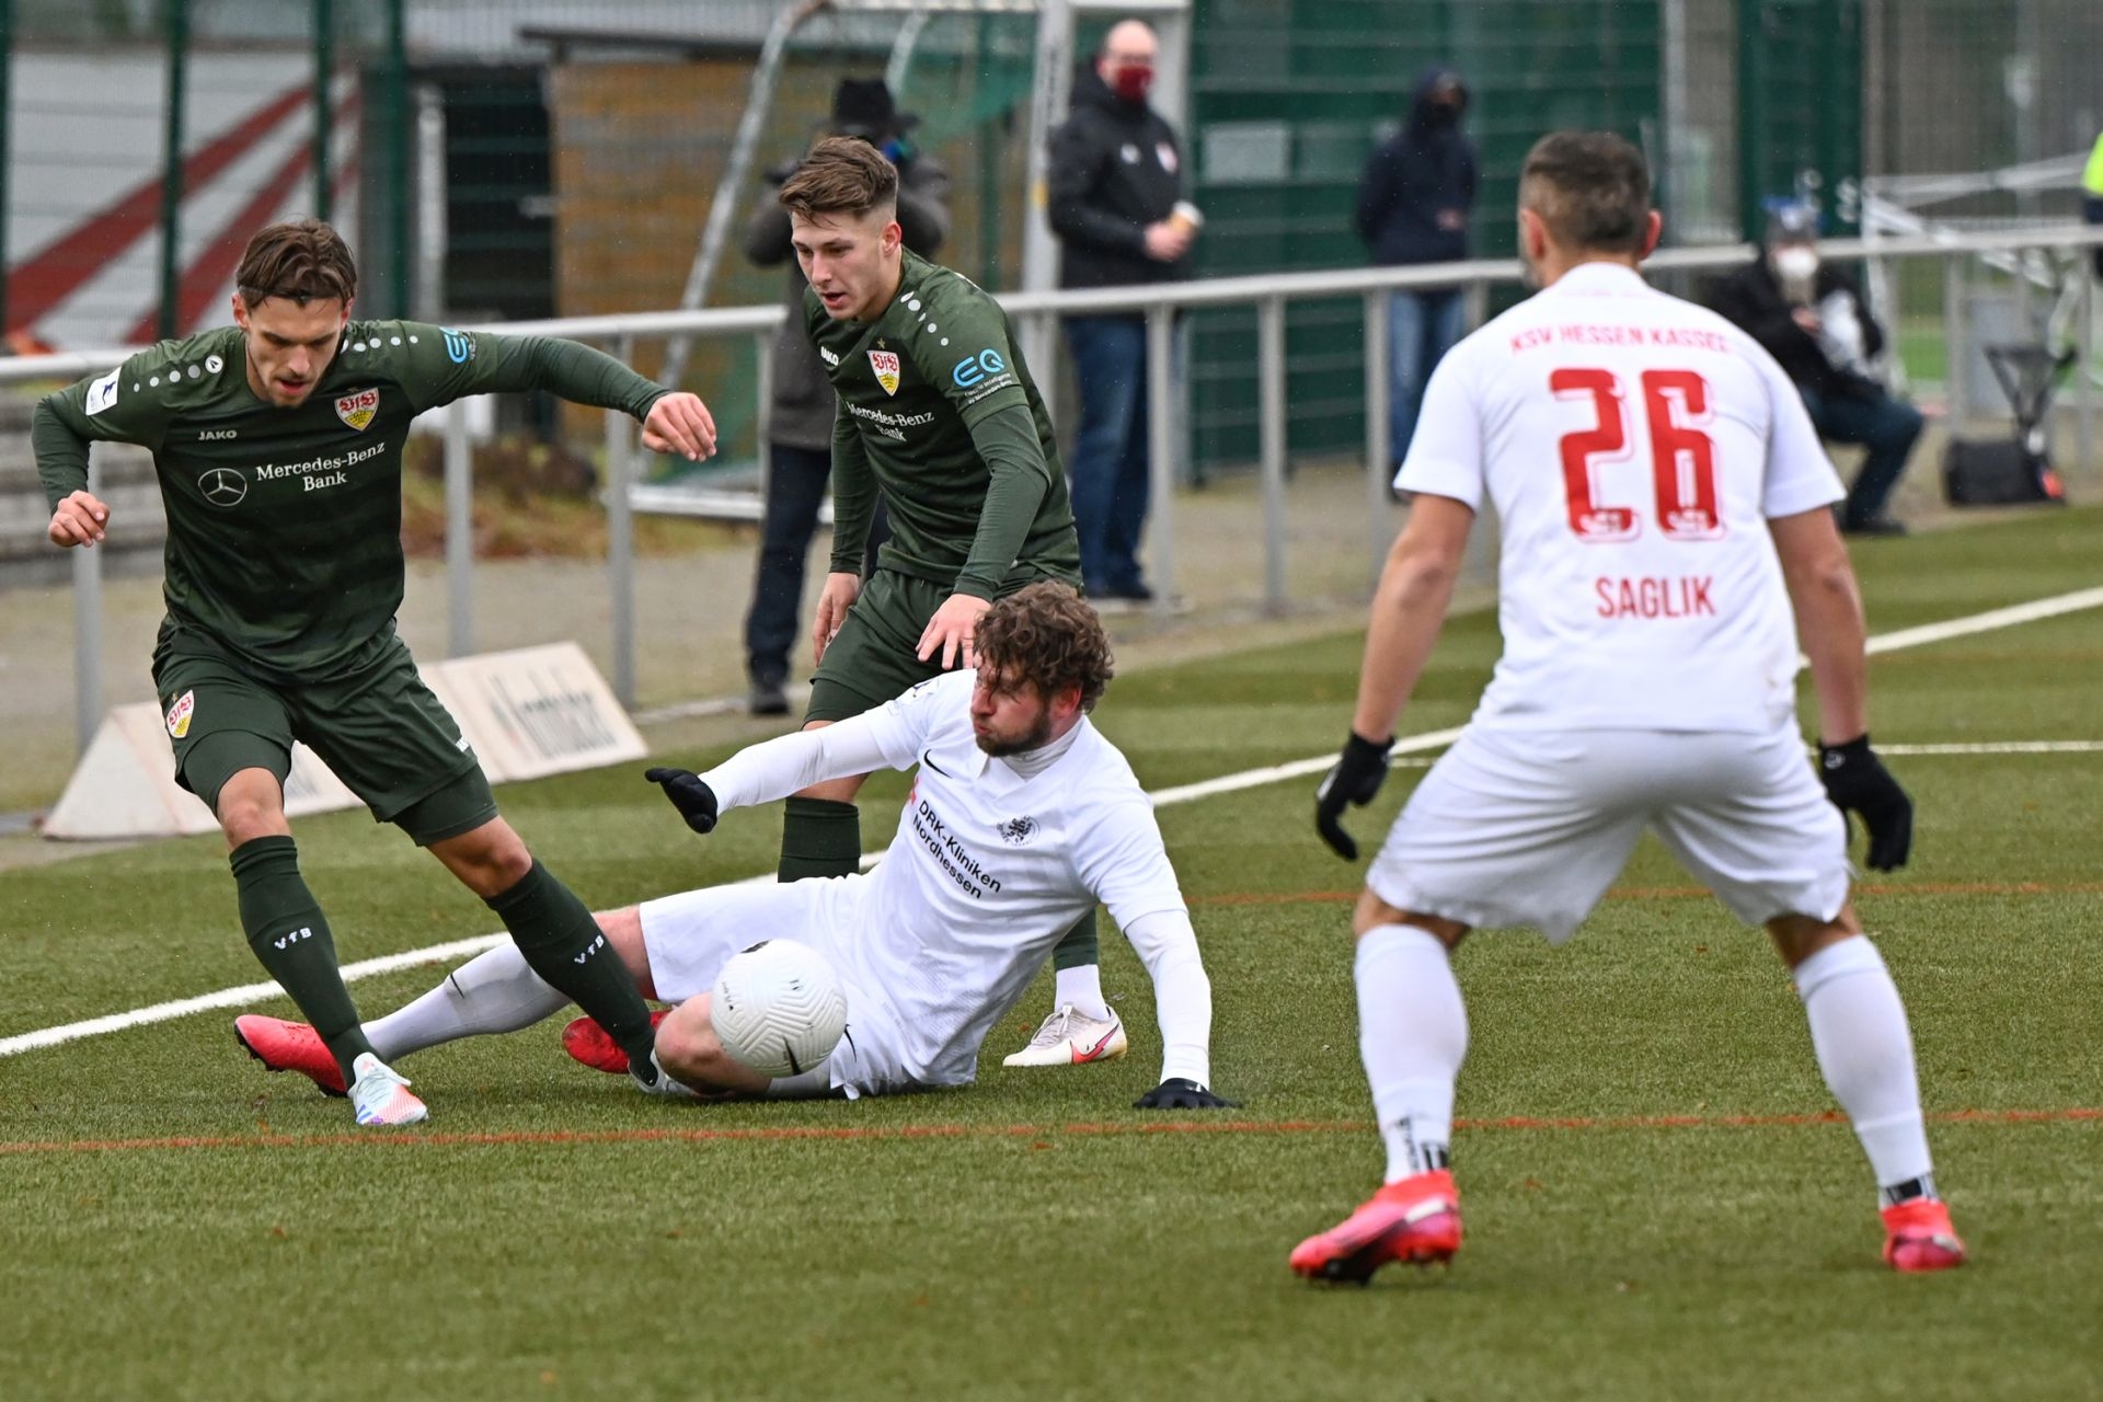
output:
[[[328,921],[299,874],[299,847],[290,837],[257,837],[236,847],[227,864],[233,866],[248,948],[328,1043],[349,1085],[351,1061],[372,1051],[372,1043],[358,1026],[351,990],[336,971]]]

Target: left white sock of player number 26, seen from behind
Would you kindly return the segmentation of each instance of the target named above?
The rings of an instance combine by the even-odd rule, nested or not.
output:
[[[1359,940],[1359,1055],[1373,1087],[1388,1181],[1447,1167],[1453,1078],[1468,1055],[1468,1009],[1436,935],[1380,925]]]

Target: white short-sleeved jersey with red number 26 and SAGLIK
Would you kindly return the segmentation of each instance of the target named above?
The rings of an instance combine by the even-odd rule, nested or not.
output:
[[[1769,731],[1796,620],[1769,517],[1842,498],[1790,378],[1722,317],[1584,263],[1453,347],[1394,486],[1495,502],[1476,721]]]

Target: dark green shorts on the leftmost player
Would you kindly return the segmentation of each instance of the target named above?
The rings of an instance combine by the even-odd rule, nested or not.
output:
[[[402,639],[364,668],[328,681],[259,677],[212,639],[162,624],[154,692],[175,742],[175,782],[219,811],[219,790],[242,769],[284,784],[292,742],[418,845],[496,818],[496,799],[452,713],[423,685]]]

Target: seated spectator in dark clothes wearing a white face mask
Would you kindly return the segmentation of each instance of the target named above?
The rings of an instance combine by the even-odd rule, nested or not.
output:
[[[1811,410],[1819,437],[1867,450],[1840,507],[1851,536],[1903,536],[1884,511],[1920,437],[1920,410],[1876,378],[1884,330],[1861,290],[1817,250],[1817,212],[1792,204],[1767,223],[1760,256],[1729,273],[1710,305],[1758,341]]]

